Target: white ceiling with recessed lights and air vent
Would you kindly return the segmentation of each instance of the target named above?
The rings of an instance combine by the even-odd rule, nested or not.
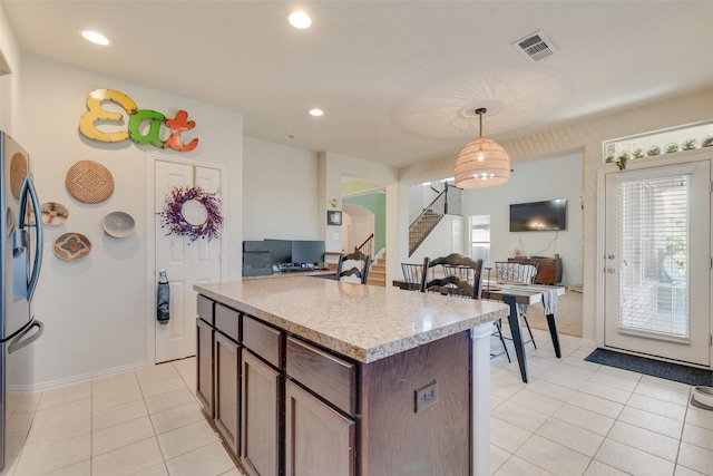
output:
[[[242,113],[246,136],[393,166],[455,158],[477,107],[506,140],[713,86],[711,1],[2,4],[25,51]],[[287,23],[296,8],[310,29]],[[540,30],[558,54],[533,64],[511,43]]]

